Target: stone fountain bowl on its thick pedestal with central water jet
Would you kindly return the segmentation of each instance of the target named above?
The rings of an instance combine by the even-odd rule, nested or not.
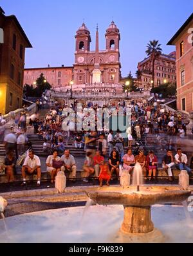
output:
[[[96,204],[99,205],[123,205],[124,222],[120,229],[121,233],[127,235],[147,235],[156,233],[151,220],[151,206],[155,204],[166,204],[183,202],[191,195],[191,191],[181,191],[174,187],[147,187],[142,186],[142,167],[136,164],[133,173],[133,186],[121,191],[117,187],[110,187],[106,191],[100,189],[88,193]]]

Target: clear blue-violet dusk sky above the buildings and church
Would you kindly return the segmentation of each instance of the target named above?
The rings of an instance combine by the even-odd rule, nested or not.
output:
[[[74,36],[83,21],[91,32],[91,50],[98,23],[104,50],[104,34],[114,19],[121,33],[122,76],[136,72],[149,40],[158,39],[165,54],[175,50],[167,42],[193,11],[190,0],[0,0],[0,6],[6,16],[17,16],[33,45],[26,50],[26,68],[73,65]]]

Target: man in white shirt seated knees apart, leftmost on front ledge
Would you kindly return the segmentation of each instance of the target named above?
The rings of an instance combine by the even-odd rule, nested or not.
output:
[[[37,173],[37,187],[39,187],[41,185],[41,161],[38,156],[34,155],[33,150],[29,151],[28,156],[24,160],[24,164],[21,169],[23,176],[23,184],[21,184],[21,186],[26,185],[26,172],[30,175]]]

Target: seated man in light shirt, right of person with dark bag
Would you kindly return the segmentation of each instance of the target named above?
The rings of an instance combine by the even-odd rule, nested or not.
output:
[[[73,176],[73,182],[76,181],[76,176],[77,176],[77,166],[75,163],[75,158],[70,155],[69,150],[64,151],[64,155],[61,157],[62,162],[64,162],[64,166],[61,167],[61,171],[69,171],[72,173]]]

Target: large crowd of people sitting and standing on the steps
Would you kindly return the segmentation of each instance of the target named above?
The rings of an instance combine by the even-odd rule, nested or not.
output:
[[[125,140],[122,133],[117,130],[110,130],[107,133],[104,129],[102,131],[71,131],[73,123],[69,121],[67,123],[68,129],[64,131],[62,129],[62,122],[68,117],[66,109],[68,105],[66,103],[61,104],[57,101],[51,103],[52,107],[47,112],[46,116],[42,119],[39,118],[39,114],[35,113],[30,116],[29,126],[33,127],[34,133],[39,134],[40,138],[44,139],[43,151],[48,155],[46,160],[46,167],[48,173],[51,175],[51,183],[54,182],[55,176],[59,171],[70,173],[70,178],[73,182],[77,177],[77,164],[75,158],[71,155],[70,151],[66,149],[66,145],[71,140],[73,141],[74,148],[78,150],[83,149],[86,154],[86,159],[82,167],[86,173],[84,182],[88,182],[91,175],[98,178],[100,186],[103,181],[106,180],[107,186],[109,186],[110,180],[114,177],[120,178],[120,165],[123,169],[132,173],[136,162],[142,165],[143,175],[147,179],[156,180],[158,171],[158,164],[161,161],[163,169],[167,171],[169,179],[173,180],[172,167],[176,167],[179,170],[186,170],[192,175],[193,158],[190,161],[190,167],[188,166],[188,158],[182,153],[181,149],[177,150],[174,154],[174,147],[172,144],[172,138],[179,136],[179,138],[185,138],[186,134],[186,122],[182,116],[172,113],[163,109],[158,102],[152,104],[146,101],[134,101],[126,103],[125,101],[117,104],[106,105],[104,107],[109,109],[117,109],[123,107],[124,114],[126,109],[131,109],[131,128],[127,129],[128,138]],[[82,105],[82,110],[90,107],[95,112],[98,105],[92,103]],[[76,112],[76,103],[71,104],[70,108]],[[41,101],[37,101],[37,110],[41,109]],[[67,111],[68,112],[68,111]],[[113,111],[112,111],[113,112]],[[0,115],[1,117],[1,115]],[[89,112],[81,114],[82,122],[89,117]],[[96,122],[91,120],[90,122]],[[92,123],[90,123],[91,125]],[[25,149],[27,143],[26,136],[26,112],[22,112],[18,121],[19,130],[17,134],[12,131],[5,136],[5,170],[8,176],[8,181],[14,180],[15,163],[19,155],[21,155]],[[139,151],[134,154],[133,142],[141,141],[143,135],[147,134],[168,134],[171,140],[168,142],[167,153],[162,160],[154,154],[153,151],[149,151],[147,155],[143,149],[139,148]],[[124,147],[128,146],[127,153],[125,154]],[[109,152],[108,152],[109,151]],[[82,152],[82,151],[81,151]],[[15,153],[15,154],[14,154]],[[22,167],[23,184],[26,184],[26,173],[37,173],[37,186],[41,184],[41,161],[39,156],[35,156],[33,150],[30,150],[28,156],[24,160]]]

